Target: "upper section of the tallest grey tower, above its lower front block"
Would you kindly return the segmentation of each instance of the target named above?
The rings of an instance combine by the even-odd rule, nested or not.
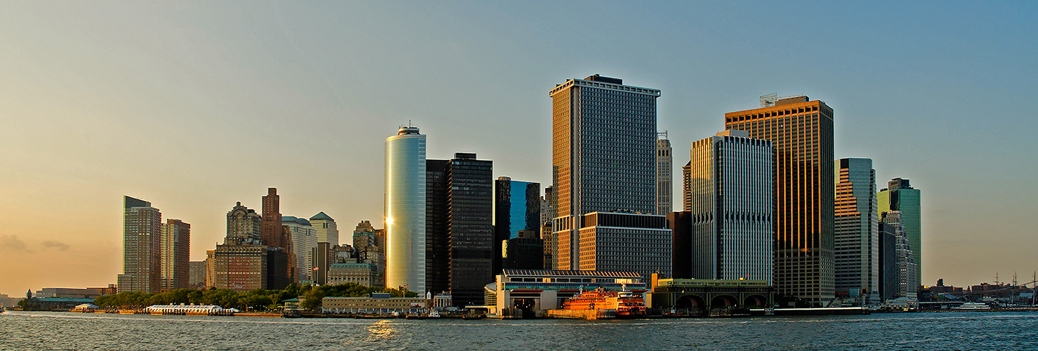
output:
[[[572,221],[597,211],[654,213],[659,90],[594,75],[567,80],[550,96],[557,218]]]

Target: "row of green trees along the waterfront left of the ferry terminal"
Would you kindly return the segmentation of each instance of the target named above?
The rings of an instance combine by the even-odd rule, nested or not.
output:
[[[334,297],[361,297],[371,293],[389,293],[393,297],[415,297],[418,294],[404,289],[372,288],[347,282],[335,286],[313,287],[305,285],[290,285],[282,290],[256,289],[249,292],[236,292],[229,289],[177,289],[164,293],[141,293],[122,292],[116,295],[104,295],[94,300],[94,304],[101,307],[116,308],[142,308],[153,304],[215,304],[224,308],[251,308],[253,310],[276,310],[283,303],[281,301],[304,296],[305,299],[300,305],[306,309],[317,309],[321,307],[321,300],[325,296]],[[24,304],[24,302],[20,302]]]

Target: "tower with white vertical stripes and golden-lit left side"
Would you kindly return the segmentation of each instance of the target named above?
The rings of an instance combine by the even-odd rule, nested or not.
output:
[[[688,250],[674,252],[689,261],[689,278],[772,284],[773,159],[770,141],[744,131],[692,142],[684,181],[690,223],[682,223],[690,228]]]

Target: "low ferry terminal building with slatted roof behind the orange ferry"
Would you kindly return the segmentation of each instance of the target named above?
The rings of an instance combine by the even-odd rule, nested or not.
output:
[[[631,291],[646,297],[648,286],[635,272],[519,270],[506,269],[485,287],[488,316],[500,316],[506,308],[523,309],[524,315],[541,316],[563,307],[563,301],[581,291],[596,289]]]

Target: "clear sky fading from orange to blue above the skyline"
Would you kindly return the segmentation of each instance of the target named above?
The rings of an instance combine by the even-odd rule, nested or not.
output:
[[[822,100],[837,158],[871,158],[879,188],[921,189],[924,285],[1030,281],[1036,15],[1027,1],[0,2],[0,293],[115,282],[124,195],[191,223],[193,261],[268,187],[286,216],[381,222],[385,138],[408,123],[429,158],[476,153],[495,178],[547,186],[548,90],[593,74],[662,91],[676,177],[726,112],[771,92]]]

